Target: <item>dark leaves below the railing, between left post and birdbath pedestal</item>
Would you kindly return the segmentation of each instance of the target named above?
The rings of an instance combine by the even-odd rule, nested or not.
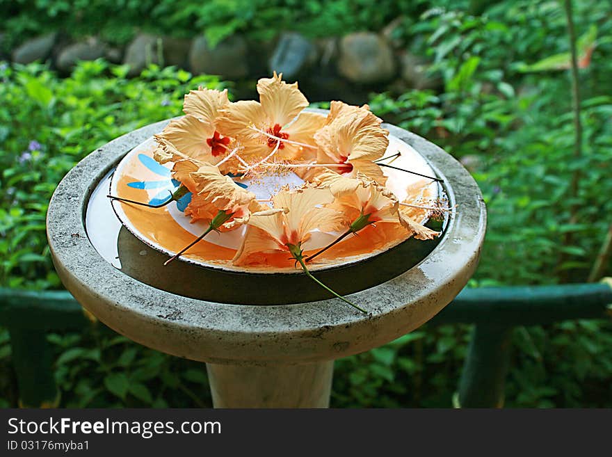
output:
[[[81,335],[49,335],[62,405],[72,408],[168,408],[211,405],[206,370],[134,344],[104,326]]]

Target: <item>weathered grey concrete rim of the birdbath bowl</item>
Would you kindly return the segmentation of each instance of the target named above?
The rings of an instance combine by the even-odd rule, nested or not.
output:
[[[420,264],[351,300],[293,305],[228,305],[155,289],[118,271],[88,241],[88,195],[100,177],[168,121],[111,141],[75,166],[49,204],[47,234],[67,289],[114,330],[159,351],[214,364],[271,366],[333,360],[380,346],[421,326],[449,303],[474,272],[485,234],[485,205],[469,173],[419,136],[384,125],[430,161],[458,205],[442,240]],[[261,292],[257,292],[261,293]]]

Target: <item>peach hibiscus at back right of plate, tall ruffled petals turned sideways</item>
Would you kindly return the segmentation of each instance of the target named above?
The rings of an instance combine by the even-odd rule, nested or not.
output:
[[[380,127],[381,122],[367,105],[332,102],[325,125],[314,135],[317,162],[337,165],[330,169],[341,175],[356,177],[359,172],[384,185],[387,178],[374,162],[389,145],[389,131]]]

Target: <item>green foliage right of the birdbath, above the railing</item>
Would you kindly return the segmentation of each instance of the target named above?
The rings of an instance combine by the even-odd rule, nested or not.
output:
[[[507,8],[514,11],[514,6]],[[542,2],[525,8],[521,22],[542,24],[543,15],[557,18],[561,6]],[[608,9],[593,8],[588,16],[604,18]],[[465,161],[483,191],[488,206],[484,255],[475,278],[485,284],[546,284],[586,280],[607,230],[612,182],[607,179],[612,159],[612,47],[600,45],[593,62],[581,73],[583,93],[583,157],[574,158],[570,83],[566,74],[525,75],[523,65],[507,61],[508,36],[521,35],[522,26],[507,21],[508,12],[494,17],[472,17],[457,11],[428,12],[428,22],[414,26],[426,33],[424,42],[434,54],[432,72],[440,74],[441,94],[411,91],[395,96],[376,95],[371,108],[389,122],[433,139]],[[501,12],[500,12],[501,13]],[[577,16],[577,19],[581,17]],[[506,22],[501,22],[501,20]],[[593,39],[594,24],[583,16],[578,24]],[[547,33],[513,48],[517,62],[553,53],[546,48],[550,35],[567,38],[563,17],[550,20]],[[508,24],[509,22],[509,24]],[[414,31],[416,30],[416,31]],[[534,31],[535,32],[535,31]],[[602,21],[600,36],[611,34]],[[524,53],[524,54],[523,54]],[[597,82],[595,82],[597,81]],[[574,170],[581,177],[578,201],[572,200]],[[579,204],[577,222],[570,207]],[[563,244],[572,232],[575,243]],[[559,262],[563,259],[563,262]],[[504,268],[499,268],[499,265]]]

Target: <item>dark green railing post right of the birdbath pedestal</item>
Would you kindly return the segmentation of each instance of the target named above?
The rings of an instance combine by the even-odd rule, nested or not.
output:
[[[513,328],[479,323],[472,330],[458,390],[460,408],[501,408]]]

